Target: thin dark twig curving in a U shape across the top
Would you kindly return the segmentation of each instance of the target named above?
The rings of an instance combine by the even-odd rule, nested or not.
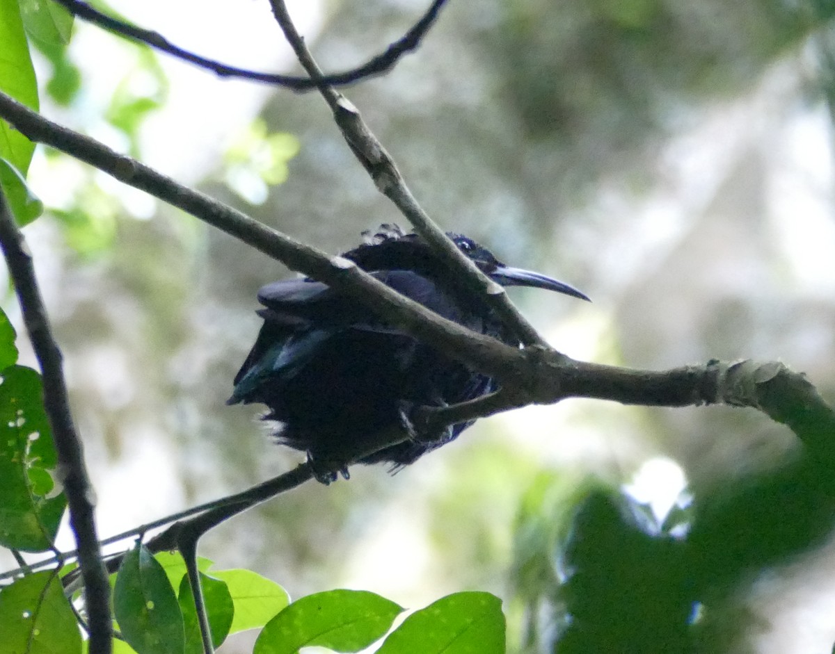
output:
[[[327,83],[334,86],[347,86],[360,82],[367,78],[376,77],[382,73],[387,73],[394,68],[397,61],[402,58],[404,54],[412,52],[420,45],[423,37],[428,33],[429,28],[432,27],[435,19],[438,18],[443,5],[447,0],[434,0],[434,2],[427,9],[426,13],[417,20],[417,23],[397,41],[391,43],[382,53],[375,55],[366,63],[363,63],[356,68],[350,68],[341,73],[333,73],[330,75],[322,75],[321,80],[311,79],[309,77],[297,77],[296,75],[281,75],[278,73],[260,73],[258,71],[249,70],[247,68],[238,68],[237,66],[230,66],[229,64],[215,61],[214,59],[202,57],[199,54],[191,53],[184,48],[176,46],[167,38],[164,38],[159,32],[154,30],[139,28],[136,25],[128,23],[127,21],[108,16],[100,12],[98,9],[91,7],[88,3],[82,0],[55,0],[68,12],[73,13],[78,18],[83,18],[89,23],[94,23],[100,28],[104,28],[109,32],[113,32],[125,38],[144,43],[150,48],[154,48],[163,53],[168,53],[173,57],[183,61],[193,63],[199,68],[210,70],[221,78],[242,78],[249,79],[253,82],[261,82],[267,84],[274,84],[284,88],[289,88],[292,91],[305,92],[310,91],[319,83]]]

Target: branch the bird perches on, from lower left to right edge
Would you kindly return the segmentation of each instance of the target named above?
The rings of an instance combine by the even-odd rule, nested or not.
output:
[[[535,349],[531,349],[534,351]],[[789,370],[781,363],[743,360],[736,362],[708,361],[705,365],[687,365],[671,370],[628,370],[615,366],[587,364],[572,361],[566,368],[564,361],[553,352],[542,352],[535,362],[540,370],[532,382],[535,390],[499,390],[476,400],[448,407],[419,407],[412,420],[420,421],[430,429],[466,420],[475,420],[498,412],[530,404],[530,393],[543,393],[542,403],[555,403],[568,397],[614,400],[626,405],[648,406],[699,406],[725,404],[750,407],[768,415],[772,420],[788,425],[806,446],[807,453],[821,465],[831,469],[835,462],[835,411],[827,405],[805,375]],[[558,370],[549,373],[549,366]],[[551,394],[551,395],[548,395]],[[404,434],[393,431],[377,435],[377,442],[367,444],[367,450],[353,452],[352,460],[402,442]],[[289,491],[309,480],[313,475],[309,464],[303,464],[283,475],[267,480],[207,505],[195,507],[184,514],[175,514],[154,521],[143,528],[114,536],[108,541],[144,533],[155,526],[179,520],[148,541],[150,551],[175,549],[183,539],[195,539],[232,516],[246,511],[281,492]],[[72,556],[68,552],[65,556]],[[108,561],[109,570],[119,567],[121,556]],[[43,561],[32,564],[43,565]],[[10,574],[10,573],[9,573]]]

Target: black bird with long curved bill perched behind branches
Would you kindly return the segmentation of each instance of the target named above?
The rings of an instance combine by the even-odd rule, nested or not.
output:
[[[364,244],[342,256],[444,318],[519,345],[486,298],[455,279],[420,236],[389,224],[363,236]],[[510,268],[466,236],[448,236],[499,284],[588,299],[556,279]],[[325,483],[336,479],[335,469],[347,478],[346,457],[362,452],[363,441],[381,430],[406,429],[412,438],[360,461],[389,462],[392,470],[413,463],[473,421],[439,434],[417,434],[408,419],[410,408],[472,400],[498,387],[490,377],[384,324],[355,299],[313,279],[267,284],[258,300],[266,307],[257,312],[264,324],[235,375],[227,404],[267,405],[263,419],[281,423],[278,442],[305,451]]]

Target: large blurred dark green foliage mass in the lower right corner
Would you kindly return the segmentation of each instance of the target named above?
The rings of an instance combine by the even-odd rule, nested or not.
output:
[[[819,546],[835,526],[829,465],[800,457],[696,496],[660,518],[605,485],[540,477],[516,528],[524,643],[554,652],[734,651],[744,589]]]

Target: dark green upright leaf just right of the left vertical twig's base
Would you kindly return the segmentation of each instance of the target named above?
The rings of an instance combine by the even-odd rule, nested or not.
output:
[[[124,640],[139,654],[183,654],[183,614],[165,571],[137,545],[119,566],[114,614]]]

